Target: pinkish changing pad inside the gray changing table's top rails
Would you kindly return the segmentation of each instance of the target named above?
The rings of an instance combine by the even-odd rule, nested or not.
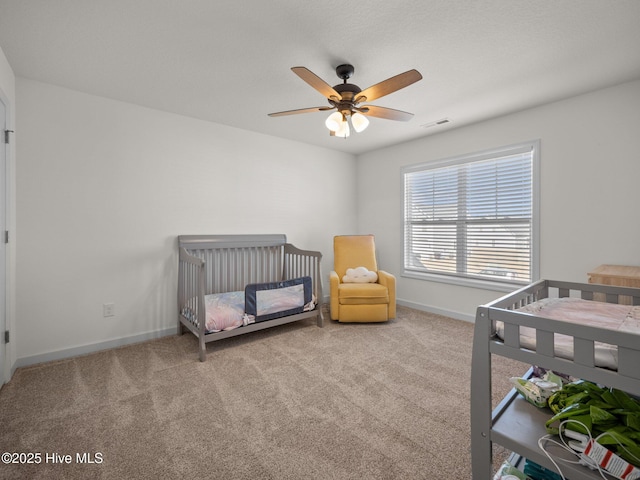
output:
[[[579,298],[544,298],[516,311],[530,313],[538,317],[561,320],[581,325],[619,330],[640,335],[640,306],[582,300]],[[504,339],[504,325],[496,322],[496,335]],[[640,341],[640,338],[639,338]],[[573,358],[573,337],[554,335],[555,355],[560,358]],[[520,345],[535,349],[535,329],[520,328]],[[594,361],[596,366],[616,370],[618,368],[618,349],[615,345],[594,342]]]

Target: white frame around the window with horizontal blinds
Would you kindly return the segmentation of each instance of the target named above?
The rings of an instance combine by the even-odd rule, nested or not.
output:
[[[406,205],[406,174],[433,170],[443,167],[454,167],[465,163],[480,162],[484,160],[496,159],[515,155],[518,153],[531,152],[531,248],[530,248],[530,275],[529,281],[509,281],[498,279],[479,279],[459,276],[456,274],[420,272],[408,269],[405,263],[407,258],[407,205]],[[481,152],[457,155],[435,161],[422,162],[415,165],[408,165],[401,169],[400,175],[402,191],[402,277],[418,280],[434,281],[439,283],[482,288],[486,290],[510,292],[514,288],[520,288],[528,283],[537,281],[540,278],[540,140],[531,140],[517,144],[491,148]]]

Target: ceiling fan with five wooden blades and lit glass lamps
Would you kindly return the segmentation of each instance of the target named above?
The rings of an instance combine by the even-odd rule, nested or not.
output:
[[[336,67],[336,75],[343,80],[343,83],[333,87],[305,67],[293,67],[291,70],[324,95],[329,102],[329,106],[287,110],[284,112],[270,113],[269,116],[281,117],[298,113],[336,110],[329,115],[329,118],[325,121],[325,125],[329,129],[330,135],[344,138],[348,137],[350,133],[349,119],[351,120],[353,129],[358,133],[362,132],[369,125],[367,116],[404,122],[410,120],[413,114],[409,112],[394,110],[393,108],[377,107],[375,105],[360,106],[360,104],[389,95],[422,79],[420,72],[417,70],[409,70],[361,90],[357,85],[347,83],[347,80],[353,75],[353,65],[344,64]]]

